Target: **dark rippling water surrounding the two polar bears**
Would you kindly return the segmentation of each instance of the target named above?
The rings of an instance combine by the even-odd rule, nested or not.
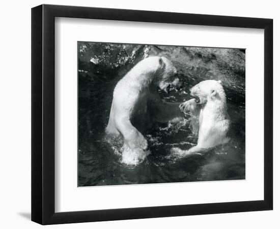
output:
[[[98,67],[92,77],[90,69],[79,71],[78,186],[245,179],[245,98],[230,87],[225,87],[232,121],[229,144],[187,157],[172,154],[172,147],[189,149],[197,142],[185,117],[177,124],[160,124],[144,133],[149,154],[142,163],[122,163],[122,140],[115,138],[108,144],[104,129],[114,87],[127,69],[118,69],[116,74]],[[160,97],[170,102],[188,100],[191,86],[205,80],[199,75],[190,78],[183,74],[180,79],[184,84],[180,91],[168,95],[159,91]]]

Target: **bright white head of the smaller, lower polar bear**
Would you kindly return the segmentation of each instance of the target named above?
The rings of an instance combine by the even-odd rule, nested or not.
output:
[[[190,95],[200,104],[213,100],[226,100],[220,80],[204,80],[190,89]]]

